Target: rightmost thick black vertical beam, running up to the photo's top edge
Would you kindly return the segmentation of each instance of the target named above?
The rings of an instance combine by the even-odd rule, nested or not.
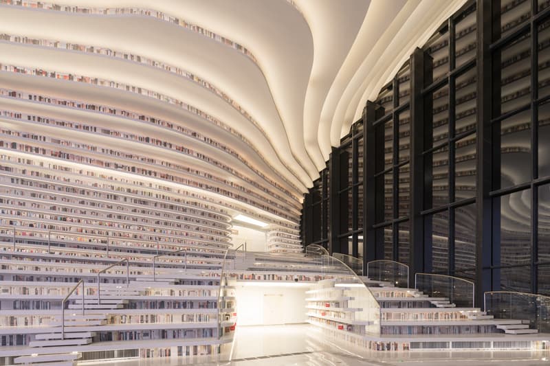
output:
[[[491,119],[494,115],[496,100],[494,95],[500,97],[500,91],[496,89],[494,78],[494,67],[492,54],[489,46],[494,41],[494,23],[500,21],[494,17],[494,12],[500,7],[499,2],[478,1],[477,3],[477,161],[476,161],[476,204],[477,204],[477,222],[476,222],[476,304],[482,306],[483,293],[492,289],[492,244],[500,245],[494,242],[493,233],[497,231],[494,228],[496,218],[493,217],[493,211],[498,210],[500,214],[500,205],[492,205],[492,199],[489,192],[492,190],[492,179],[496,176],[493,172],[493,152],[494,135],[491,126]],[[498,78],[500,80],[500,78]],[[498,102],[500,106],[500,102]],[[500,173],[498,174],[500,180]],[[498,201],[495,200],[495,202]],[[500,258],[499,258],[500,259]]]

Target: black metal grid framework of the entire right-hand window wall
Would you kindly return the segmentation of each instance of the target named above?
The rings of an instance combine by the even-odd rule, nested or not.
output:
[[[537,293],[540,288],[538,279],[538,268],[542,265],[549,266],[548,260],[541,261],[538,258],[539,233],[538,233],[538,209],[539,196],[538,187],[550,184],[550,176],[539,176],[538,174],[538,109],[542,104],[550,103],[550,95],[542,98],[538,95],[538,49],[540,41],[538,39],[538,27],[543,22],[550,19],[550,6],[538,10],[537,0],[527,0],[531,5],[531,13],[528,17],[522,18],[524,23],[508,30],[505,36],[501,36],[501,9],[498,1],[489,0],[471,0],[466,3],[459,12],[456,12],[448,21],[439,27],[434,39],[438,36],[448,34],[448,70],[434,80],[435,69],[441,62],[434,65],[434,60],[430,56],[430,49],[416,49],[412,54],[408,65],[410,67],[410,101],[399,104],[399,80],[397,76],[386,84],[381,91],[382,99],[386,102],[366,102],[363,117],[360,122],[353,124],[349,135],[344,137],[339,148],[333,148],[331,159],[328,163],[331,175],[331,185],[327,199],[331,219],[325,226],[330,230],[329,248],[331,251],[347,253],[347,240],[349,236],[353,238],[352,255],[359,254],[358,237],[364,232],[363,253],[364,263],[377,259],[399,260],[399,224],[408,222],[409,225],[409,253],[410,268],[412,275],[419,271],[432,272],[432,231],[431,218],[434,214],[447,213],[448,216],[448,266],[439,268],[440,273],[458,275],[459,277],[473,277],[476,282],[476,306],[480,306],[483,299],[483,293],[487,290],[498,290],[502,288],[501,270],[503,268],[529,268],[529,288],[520,288],[520,290],[530,290]],[[525,2],[513,3],[513,6],[521,5]],[[475,12],[475,14],[474,14]],[[469,27],[464,31],[458,32],[457,24],[463,21],[465,16],[476,16],[476,30]],[[470,18],[471,19],[471,18]],[[473,23],[473,22],[472,22]],[[472,24],[466,23],[466,24]],[[474,34],[474,35],[472,35]],[[462,36],[475,36],[474,46],[476,48],[475,56],[465,60],[472,48],[467,52],[457,52],[455,40]],[[501,76],[500,68],[503,60],[500,60],[500,50],[517,41],[520,37],[529,39],[530,62],[530,85],[529,95],[523,95],[523,98],[529,98],[529,102],[515,106],[515,108],[501,112]],[[526,38],[526,39],[527,39]],[[467,42],[472,38],[468,38]],[[546,42],[547,40],[545,40]],[[461,42],[464,44],[464,42]],[[443,47],[445,43],[443,43]],[[441,50],[441,45],[437,45]],[[461,46],[462,47],[462,46]],[[470,45],[468,45],[470,47]],[[544,46],[547,47],[547,46]],[[433,49],[431,49],[433,51]],[[437,52],[437,50],[435,51]],[[525,56],[525,55],[523,55]],[[523,57],[522,56],[522,57]],[[460,62],[455,62],[461,58]],[[475,99],[476,110],[472,112],[475,122],[468,124],[463,131],[456,130],[456,89],[459,86],[457,79],[464,76],[465,73],[475,75]],[[470,77],[468,77],[470,79]],[[473,76],[472,76],[473,80]],[[434,93],[448,87],[448,135],[443,142],[434,143],[432,119],[434,115]],[[393,104],[388,106],[388,93],[393,93]],[[473,93],[473,92],[472,92]],[[386,99],[384,99],[386,98]],[[399,113],[410,108],[410,158],[399,160]],[[470,107],[468,107],[470,108]],[[444,109],[444,108],[443,108]],[[439,109],[437,112],[442,111]],[[473,111],[473,109],[472,109]],[[530,118],[530,149],[531,176],[522,183],[507,187],[500,187],[500,165],[505,152],[500,148],[500,124],[504,119],[514,117],[518,113],[529,111]],[[470,115],[471,118],[471,115]],[[393,123],[393,141],[391,166],[384,168],[384,124]],[[442,124],[444,125],[444,124]],[[441,129],[441,127],[439,127]],[[360,171],[358,170],[358,139],[364,137],[363,144],[363,200],[364,215],[362,222],[358,216],[360,203],[359,190]],[[401,136],[401,139],[403,136]],[[473,141],[475,139],[475,141]],[[475,186],[476,192],[472,196],[455,196],[458,187],[456,180],[457,158],[461,157],[457,148],[462,145],[459,141],[474,143],[476,151],[475,161]],[[352,146],[351,157],[341,161],[342,150],[346,146]],[[434,179],[434,165],[432,164],[432,155],[439,150],[445,150],[448,154],[448,184],[446,189],[449,197],[448,201],[441,203],[433,200],[432,183]],[[338,158],[338,159],[337,159]],[[351,159],[352,183],[344,183],[340,179],[340,173],[347,174],[347,169],[342,166],[349,164]],[[468,157],[467,159],[470,159]],[[410,167],[410,206],[407,216],[399,216],[399,168],[409,164]],[[473,168],[472,168],[473,170]],[[393,203],[388,206],[391,211],[391,218],[384,218],[384,174],[391,175],[391,192]],[[472,176],[472,174],[470,174]],[[346,177],[347,181],[347,177]],[[341,201],[348,203],[348,192],[352,190],[351,207],[341,204]],[[507,264],[500,262],[500,198],[514,192],[531,192],[531,211],[530,222],[531,233],[529,236],[529,245],[531,249],[529,263]],[[465,198],[467,197],[467,198]],[[306,196],[307,198],[307,196]],[[307,199],[305,207],[309,205]],[[455,230],[457,210],[463,208],[473,209],[475,212],[474,220],[476,228],[472,236],[475,238],[474,253],[472,253],[471,268],[469,258],[461,262],[461,268],[456,267],[457,258],[456,243],[461,238],[461,232]],[[402,207],[401,207],[402,209]],[[303,221],[304,227],[307,226],[308,211],[304,209]],[[351,215],[351,216],[348,216]],[[345,224],[344,220],[345,218]],[[351,217],[353,222],[352,230],[347,227],[347,220]],[[340,218],[341,220],[335,220]],[[345,227],[344,227],[345,226]],[[393,229],[392,236],[392,257],[388,258],[384,253],[384,238],[380,236],[380,230],[384,227]],[[472,228],[473,229],[473,228]],[[307,230],[305,230],[305,243],[308,244]],[[460,234],[460,236],[459,236]],[[457,238],[457,236],[459,238]],[[328,237],[327,237],[328,238]],[[345,245],[344,245],[345,242]]]

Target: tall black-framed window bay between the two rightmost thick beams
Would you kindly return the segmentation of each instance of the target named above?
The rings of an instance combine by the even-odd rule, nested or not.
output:
[[[423,91],[426,270],[474,277],[476,225],[475,4],[452,16],[424,50],[432,82]]]

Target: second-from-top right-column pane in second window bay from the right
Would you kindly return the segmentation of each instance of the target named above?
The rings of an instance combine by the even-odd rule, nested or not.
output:
[[[476,67],[468,69],[455,80],[455,133],[476,128]]]

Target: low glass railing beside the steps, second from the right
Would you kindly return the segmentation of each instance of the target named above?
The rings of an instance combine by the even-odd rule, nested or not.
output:
[[[430,297],[445,297],[457,308],[474,307],[474,282],[467,279],[433,273],[417,273],[415,288]]]

